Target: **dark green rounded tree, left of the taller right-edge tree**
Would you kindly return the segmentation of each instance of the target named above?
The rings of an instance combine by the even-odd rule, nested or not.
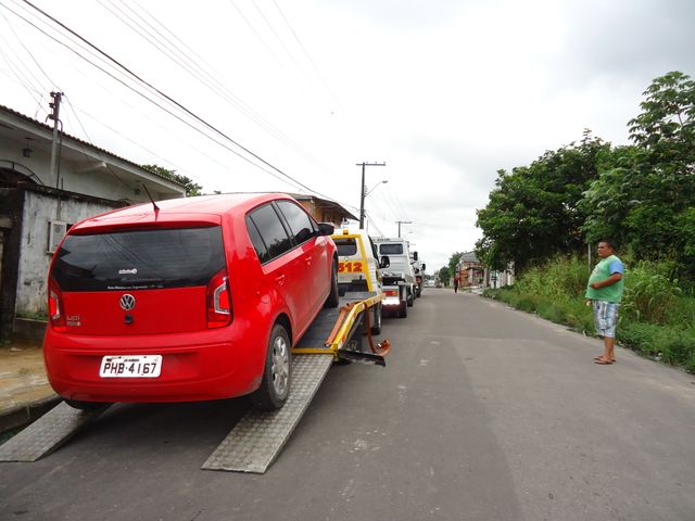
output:
[[[478,211],[483,238],[476,252],[484,264],[522,271],[558,253],[584,250],[585,214],[578,206],[598,177],[597,162],[610,144],[584,131],[580,143],[548,151],[529,166],[497,171],[488,205]]]

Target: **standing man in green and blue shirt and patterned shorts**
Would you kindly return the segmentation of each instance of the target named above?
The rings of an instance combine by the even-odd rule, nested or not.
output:
[[[604,339],[604,354],[595,357],[594,364],[608,366],[616,361],[614,346],[618,308],[624,285],[624,267],[615,255],[615,246],[610,241],[601,241],[597,250],[601,259],[589,277],[585,296],[586,304],[592,304],[594,308],[596,332]]]

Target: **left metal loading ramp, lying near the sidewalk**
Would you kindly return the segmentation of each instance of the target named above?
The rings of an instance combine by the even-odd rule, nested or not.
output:
[[[15,436],[0,445],[0,461],[36,461],[58,449],[77,431],[109,408],[77,410],[61,402]]]

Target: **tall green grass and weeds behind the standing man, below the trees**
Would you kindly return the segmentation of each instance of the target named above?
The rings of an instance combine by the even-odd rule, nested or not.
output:
[[[668,268],[627,262],[618,342],[644,356],[695,373],[695,295],[669,280]],[[485,290],[484,296],[595,335],[591,307],[583,297],[589,278],[585,258],[548,260],[529,268],[513,287]]]

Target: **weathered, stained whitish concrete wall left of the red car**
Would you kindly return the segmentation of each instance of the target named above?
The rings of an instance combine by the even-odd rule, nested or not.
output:
[[[17,315],[33,316],[47,312],[46,281],[52,258],[48,251],[49,223],[62,220],[73,225],[113,207],[106,202],[59,199],[53,194],[26,191],[15,303]]]

